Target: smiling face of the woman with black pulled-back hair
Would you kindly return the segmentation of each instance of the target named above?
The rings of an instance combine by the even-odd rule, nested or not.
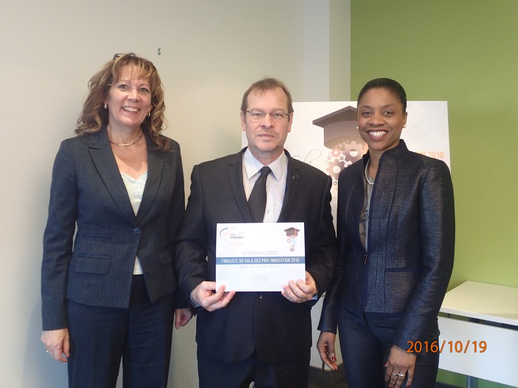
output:
[[[389,89],[371,88],[358,101],[358,131],[371,154],[397,146],[406,123],[407,112]]]

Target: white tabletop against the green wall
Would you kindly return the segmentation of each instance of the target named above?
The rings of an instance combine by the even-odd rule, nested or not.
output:
[[[518,287],[465,281],[446,293],[440,311],[518,326]]]

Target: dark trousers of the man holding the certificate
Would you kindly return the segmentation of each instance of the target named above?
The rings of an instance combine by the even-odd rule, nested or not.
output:
[[[227,363],[198,347],[200,388],[306,388],[308,386],[310,349],[299,354],[296,361],[265,363],[254,352],[242,361]]]

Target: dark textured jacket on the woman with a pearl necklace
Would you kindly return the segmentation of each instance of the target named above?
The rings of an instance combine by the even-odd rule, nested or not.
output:
[[[381,156],[372,189],[368,252],[359,235],[364,166],[344,169],[338,182],[339,258],[319,330],[336,333],[337,309],[404,312],[394,344],[425,341],[453,268],[455,210],[448,166],[410,152],[403,140]]]

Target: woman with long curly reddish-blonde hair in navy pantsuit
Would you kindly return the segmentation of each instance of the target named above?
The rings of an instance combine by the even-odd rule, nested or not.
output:
[[[156,68],[117,54],[89,82],[77,137],[52,171],[41,266],[41,336],[70,387],[166,387],[175,240],[184,212],[180,147],[161,135]],[[182,306],[180,306],[182,307]]]

